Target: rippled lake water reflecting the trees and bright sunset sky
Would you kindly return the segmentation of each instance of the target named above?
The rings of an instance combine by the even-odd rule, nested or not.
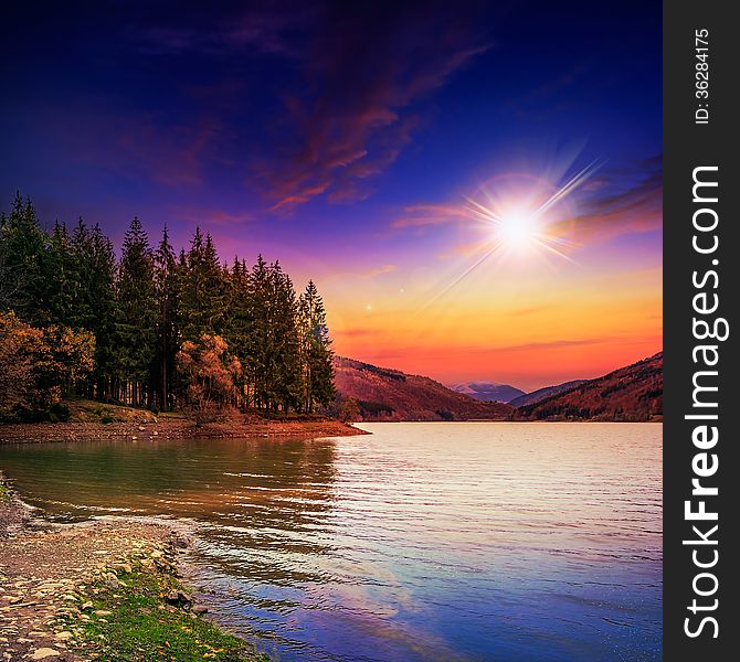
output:
[[[194,521],[199,579],[278,660],[660,659],[659,425],[362,427],[0,466],[54,517]]]

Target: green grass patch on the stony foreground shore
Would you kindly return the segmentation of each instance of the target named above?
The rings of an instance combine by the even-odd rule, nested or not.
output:
[[[269,662],[243,640],[221,631],[194,613],[167,605],[170,590],[183,590],[175,577],[142,572],[118,575],[124,586],[115,589],[104,584],[84,610],[87,621],[74,619],[82,627],[81,639],[92,644],[97,660],[221,660],[229,662]],[[95,611],[109,615],[95,615]],[[71,623],[72,624],[72,623]]]

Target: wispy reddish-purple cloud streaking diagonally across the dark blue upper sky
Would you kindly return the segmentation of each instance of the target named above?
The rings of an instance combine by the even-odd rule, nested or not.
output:
[[[469,11],[415,9],[326,9],[302,58],[302,94],[285,98],[289,147],[261,163],[273,210],[369,195],[412,141],[416,105],[489,49]]]

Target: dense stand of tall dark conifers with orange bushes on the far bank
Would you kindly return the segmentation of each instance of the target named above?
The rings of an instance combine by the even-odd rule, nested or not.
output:
[[[224,407],[311,413],[335,397],[326,310],[278,261],[222,264],[200,228],[179,254],[135,217],[120,255],[80,218],[0,215],[0,418],[63,418],[81,396],[208,420]]]

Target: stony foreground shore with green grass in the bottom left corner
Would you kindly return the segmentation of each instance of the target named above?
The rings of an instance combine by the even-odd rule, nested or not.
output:
[[[177,523],[36,513],[0,472],[3,660],[269,660],[204,618],[180,579],[190,541]]]

